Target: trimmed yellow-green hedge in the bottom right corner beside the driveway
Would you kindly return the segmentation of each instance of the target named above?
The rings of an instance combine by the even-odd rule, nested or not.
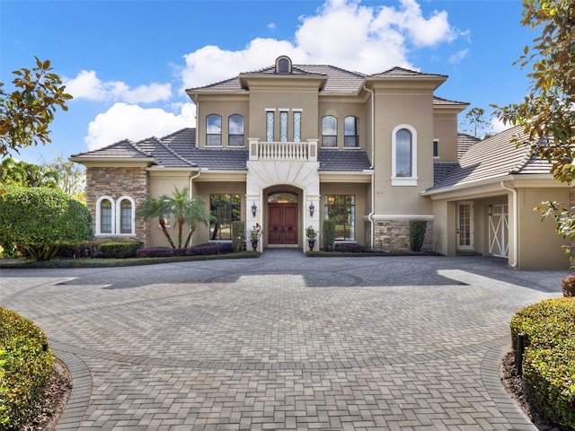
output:
[[[544,416],[575,429],[575,298],[551,299],[517,312],[510,322],[524,334],[526,391]]]

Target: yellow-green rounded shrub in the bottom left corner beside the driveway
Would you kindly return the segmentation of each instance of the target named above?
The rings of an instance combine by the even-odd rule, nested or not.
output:
[[[0,429],[20,429],[34,417],[51,374],[46,335],[33,322],[0,308]]]

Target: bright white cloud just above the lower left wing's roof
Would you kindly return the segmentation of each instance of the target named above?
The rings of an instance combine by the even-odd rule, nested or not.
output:
[[[118,102],[90,122],[84,142],[93,151],[122,139],[139,141],[150,136],[162,137],[181,128],[194,128],[195,117],[193,103],[183,104],[180,114],[176,115],[158,108],[144,109]]]

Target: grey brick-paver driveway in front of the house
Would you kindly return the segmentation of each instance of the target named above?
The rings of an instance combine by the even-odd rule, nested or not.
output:
[[[57,429],[536,429],[501,386],[518,308],[567,271],[482,257],[3,269],[74,389]]]

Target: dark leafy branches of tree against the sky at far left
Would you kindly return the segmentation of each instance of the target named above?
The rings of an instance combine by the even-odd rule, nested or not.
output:
[[[13,71],[13,92],[4,92],[0,83],[0,156],[51,142],[49,123],[57,107],[67,110],[66,101],[72,99],[60,77],[51,72],[50,61],[34,58],[35,67]]]

